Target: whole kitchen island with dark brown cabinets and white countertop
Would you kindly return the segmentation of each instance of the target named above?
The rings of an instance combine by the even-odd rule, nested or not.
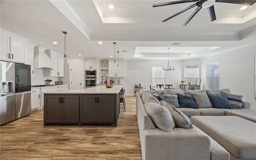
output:
[[[123,85],[44,92],[44,126],[49,124],[112,124],[117,126]]]

